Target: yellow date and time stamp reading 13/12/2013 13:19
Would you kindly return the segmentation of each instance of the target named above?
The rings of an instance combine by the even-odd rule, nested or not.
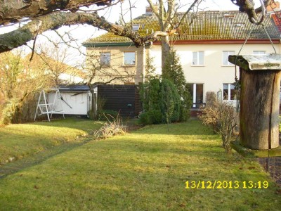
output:
[[[185,181],[185,188],[187,189],[251,189],[251,188],[268,188],[268,181],[226,181],[226,180],[192,180]]]

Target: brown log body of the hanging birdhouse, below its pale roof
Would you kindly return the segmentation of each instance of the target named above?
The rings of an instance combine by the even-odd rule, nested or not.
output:
[[[251,149],[279,146],[280,70],[243,70],[240,143]]]

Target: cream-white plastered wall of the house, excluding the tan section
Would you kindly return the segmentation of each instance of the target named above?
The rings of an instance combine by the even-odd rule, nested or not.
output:
[[[181,65],[185,74],[186,81],[190,84],[204,84],[204,97],[207,91],[223,90],[223,84],[235,82],[235,68],[223,66],[223,51],[235,51],[237,54],[242,44],[180,44],[175,45]],[[275,44],[277,53],[280,53],[280,44]],[[192,52],[204,51],[204,65],[192,65]],[[271,44],[246,44],[240,55],[253,54],[253,51],[266,51],[274,53]],[[157,72],[161,72],[161,46],[154,45],[150,49],[150,56],[154,58],[154,65]],[[239,70],[237,68],[239,77]]]

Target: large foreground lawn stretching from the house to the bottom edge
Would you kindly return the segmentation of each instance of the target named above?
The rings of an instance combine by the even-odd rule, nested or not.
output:
[[[228,188],[202,188],[202,183],[192,188],[192,181],[227,181]],[[268,188],[243,188],[243,181],[268,181]],[[281,206],[280,188],[259,163],[237,153],[226,155],[219,137],[198,120],[170,124],[169,131],[166,125],[153,125],[89,141],[1,178],[0,190],[0,210],[280,210]]]

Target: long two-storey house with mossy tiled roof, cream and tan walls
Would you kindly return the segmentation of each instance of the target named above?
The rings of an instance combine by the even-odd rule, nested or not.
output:
[[[181,18],[183,13],[178,13]],[[279,20],[280,21],[280,20]],[[190,25],[190,23],[192,24]],[[264,29],[280,53],[280,31],[274,15],[266,15]],[[145,36],[159,30],[155,15],[147,13],[132,20],[133,30]],[[242,44],[252,30],[247,44]],[[228,62],[229,55],[273,53],[273,46],[263,26],[249,23],[246,13],[239,11],[203,11],[190,13],[185,18],[178,35],[170,37],[171,44],[181,58],[185,78],[190,84],[192,108],[205,102],[207,91],[221,93],[225,101],[235,103],[235,65]],[[99,58],[100,63],[118,70],[134,71],[131,82],[145,82],[146,61],[153,58],[156,72],[161,73],[160,41],[136,48],[130,39],[106,33],[84,42],[87,53]],[[239,70],[237,68],[239,77]],[[219,92],[221,91],[221,92]]]

